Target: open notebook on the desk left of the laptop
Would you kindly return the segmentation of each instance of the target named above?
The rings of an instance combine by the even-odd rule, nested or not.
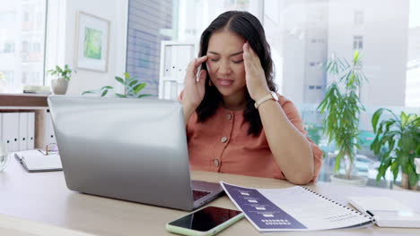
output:
[[[39,150],[27,150],[14,153],[14,157],[30,173],[63,170],[58,154],[44,155]]]

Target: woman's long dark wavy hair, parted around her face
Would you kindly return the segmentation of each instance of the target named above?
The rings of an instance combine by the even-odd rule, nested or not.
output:
[[[268,46],[264,28],[257,17],[247,12],[230,11],[222,13],[210,23],[201,35],[199,56],[207,54],[208,42],[215,31],[230,30],[240,35],[248,41],[249,46],[258,55],[261,66],[266,74],[268,88],[276,91],[274,83],[274,66],[271,59],[270,46]],[[202,69],[207,71],[206,63],[202,64]],[[208,72],[207,72],[208,74]],[[203,101],[197,107],[198,122],[206,122],[208,118],[215,114],[221,105],[222,95],[214,87],[208,85],[209,76],[206,79],[206,93]],[[243,112],[245,122],[249,122],[248,134],[258,135],[262,130],[261,119],[258,110],[255,108],[255,101],[249,96],[248,89],[245,94],[246,108]]]

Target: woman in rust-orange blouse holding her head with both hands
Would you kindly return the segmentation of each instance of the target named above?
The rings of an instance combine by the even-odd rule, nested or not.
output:
[[[201,66],[197,75],[198,67]],[[264,29],[246,12],[219,15],[188,64],[181,103],[193,170],[315,181],[322,151],[276,94]]]

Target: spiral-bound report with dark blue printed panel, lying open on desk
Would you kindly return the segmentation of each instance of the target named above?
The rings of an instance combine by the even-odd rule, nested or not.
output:
[[[363,215],[305,187],[249,189],[220,183],[260,232],[361,228],[373,223],[370,215]]]

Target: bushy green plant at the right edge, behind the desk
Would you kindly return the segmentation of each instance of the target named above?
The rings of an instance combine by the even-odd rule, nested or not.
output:
[[[388,119],[381,119],[384,112],[390,114]],[[381,108],[373,114],[372,126],[376,137],[371,149],[381,157],[376,181],[385,179],[390,169],[395,182],[401,170],[401,187],[416,190],[420,179],[415,164],[415,158],[420,156],[420,116],[402,112],[398,117],[391,110]]]

